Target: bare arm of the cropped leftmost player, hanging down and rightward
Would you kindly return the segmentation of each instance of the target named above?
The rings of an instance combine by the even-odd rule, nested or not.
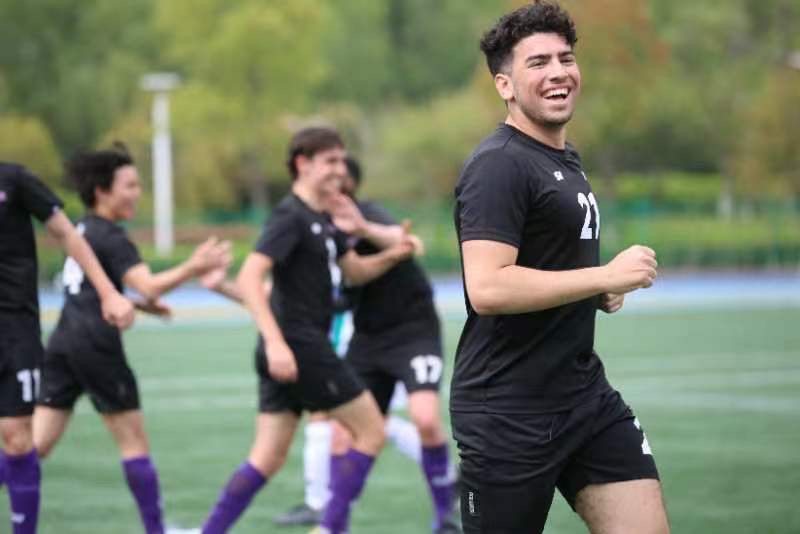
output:
[[[89,243],[78,233],[69,218],[57,210],[45,223],[48,233],[55,238],[67,256],[73,258],[92,282],[100,297],[103,318],[117,328],[133,324],[133,303],[123,297],[106,276]]]

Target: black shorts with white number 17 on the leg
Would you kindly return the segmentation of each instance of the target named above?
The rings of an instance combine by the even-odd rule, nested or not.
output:
[[[356,331],[345,359],[385,414],[397,382],[409,393],[439,391],[444,360],[438,321],[416,322],[378,335]]]

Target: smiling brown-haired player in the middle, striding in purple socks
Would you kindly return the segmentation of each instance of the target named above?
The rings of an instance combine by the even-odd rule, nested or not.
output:
[[[204,534],[227,532],[253,496],[283,465],[304,410],[327,411],[354,436],[353,448],[334,473],[332,497],[317,529],[347,532],[358,497],[384,442],[383,419],[355,373],[333,352],[328,331],[335,291],[342,277],[363,284],[409,257],[409,240],[365,258],[347,248],[345,236],[326,215],[346,174],[339,134],[307,128],[289,145],[292,192],[273,211],[242,266],[239,296],[261,334],[256,349],[259,410],[256,437],[246,462],[223,489]],[[268,303],[263,282],[272,274]]]

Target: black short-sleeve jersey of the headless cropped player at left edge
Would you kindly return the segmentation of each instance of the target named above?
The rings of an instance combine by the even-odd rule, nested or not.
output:
[[[46,222],[61,201],[20,165],[0,163],[0,312],[39,316],[31,215]]]

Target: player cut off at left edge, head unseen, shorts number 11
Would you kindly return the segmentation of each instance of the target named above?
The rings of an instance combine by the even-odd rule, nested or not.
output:
[[[114,288],[62,203],[24,167],[0,163],[0,482],[8,484],[15,534],[36,531],[41,471],[33,449],[31,414],[43,355],[31,216],[45,224],[97,288],[102,315],[115,328],[133,322],[133,305]]]

